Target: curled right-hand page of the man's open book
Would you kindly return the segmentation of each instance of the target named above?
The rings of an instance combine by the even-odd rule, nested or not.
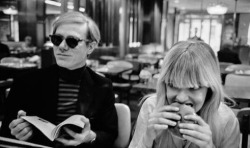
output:
[[[84,117],[84,116],[83,115],[73,115],[73,116],[70,116],[69,118],[67,118],[66,120],[64,120],[59,125],[57,125],[57,127],[52,132],[52,134],[54,135],[53,138],[55,139],[56,137],[58,137],[58,134],[59,134],[61,127],[64,125],[67,125],[67,124],[75,125],[75,126],[78,126],[78,127],[83,129],[85,123],[81,120],[82,117]]]

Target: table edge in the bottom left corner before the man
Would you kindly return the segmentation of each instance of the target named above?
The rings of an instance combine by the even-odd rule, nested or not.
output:
[[[31,142],[20,141],[16,139],[10,139],[6,137],[0,137],[0,147],[12,147],[12,148],[51,148],[48,146],[35,144]]]

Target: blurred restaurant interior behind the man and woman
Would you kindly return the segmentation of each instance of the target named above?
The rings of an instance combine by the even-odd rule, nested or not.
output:
[[[139,100],[155,92],[165,54],[182,40],[211,45],[225,92],[250,107],[250,0],[1,0],[0,119],[13,79],[55,63],[52,23],[80,11],[95,20],[101,42],[87,64],[113,81],[132,124]],[[235,106],[234,106],[235,107]]]

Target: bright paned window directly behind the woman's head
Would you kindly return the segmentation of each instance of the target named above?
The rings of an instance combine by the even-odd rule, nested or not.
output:
[[[220,49],[221,32],[222,23],[220,17],[189,14],[180,20],[178,41],[187,40],[196,36],[208,43],[215,53],[217,53]]]

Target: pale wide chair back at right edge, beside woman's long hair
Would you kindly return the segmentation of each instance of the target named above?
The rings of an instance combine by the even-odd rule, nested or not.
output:
[[[228,74],[225,80],[225,86],[250,86],[250,76],[239,74]]]

